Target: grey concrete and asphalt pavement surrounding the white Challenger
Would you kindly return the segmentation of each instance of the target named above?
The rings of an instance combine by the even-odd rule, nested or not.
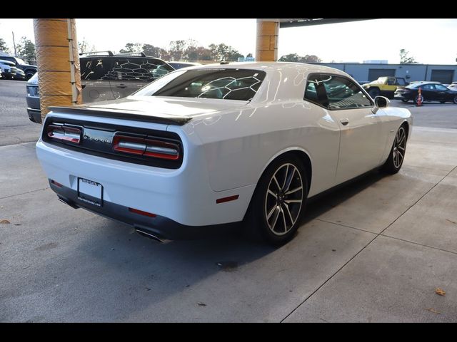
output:
[[[0,80],[0,321],[457,321],[457,105],[410,103],[401,172],[318,197],[272,249],[159,244],[59,202],[24,96]]]

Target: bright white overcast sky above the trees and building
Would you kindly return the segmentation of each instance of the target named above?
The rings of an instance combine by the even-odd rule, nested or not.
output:
[[[225,43],[246,56],[256,49],[256,19],[76,19],[79,41],[119,51],[126,43],[169,48],[170,41]],[[13,50],[21,36],[34,40],[32,19],[0,19],[0,38]],[[456,64],[457,19],[377,19],[281,28],[278,56],[316,55],[324,62],[387,60],[399,63],[401,48],[419,63]]]

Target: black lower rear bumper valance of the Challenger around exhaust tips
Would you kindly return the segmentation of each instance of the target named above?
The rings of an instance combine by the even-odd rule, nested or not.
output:
[[[141,232],[146,232],[158,237],[161,240],[180,240],[180,239],[196,239],[199,237],[211,236],[214,234],[221,234],[228,232],[232,229],[239,227],[238,222],[230,224],[216,224],[203,227],[186,226],[179,224],[172,219],[163,216],[146,217],[141,214],[136,214],[129,211],[129,207],[115,204],[112,202],[103,202],[102,207],[88,204],[78,198],[78,192],[69,187],[58,187],[49,180],[49,185],[54,192],[56,192],[59,199],[70,207],[75,209],[84,208],[89,212],[94,212],[103,217],[114,219],[117,222],[129,224],[134,229]]]

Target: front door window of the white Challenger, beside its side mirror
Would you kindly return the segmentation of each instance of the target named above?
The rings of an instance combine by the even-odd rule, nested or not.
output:
[[[361,88],[347,78],[332,75],[323,75],[321,78],[327,93],[328,108],[361,108],[373,105]]]

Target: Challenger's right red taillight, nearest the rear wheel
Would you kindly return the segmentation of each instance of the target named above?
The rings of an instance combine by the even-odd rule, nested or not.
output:
[[[144,157],[154,157],[166,160],[179,159],[179,145],[174,144],[173,142],[149,138],[114,135],[113,149],[116,152],[143,155]]]

